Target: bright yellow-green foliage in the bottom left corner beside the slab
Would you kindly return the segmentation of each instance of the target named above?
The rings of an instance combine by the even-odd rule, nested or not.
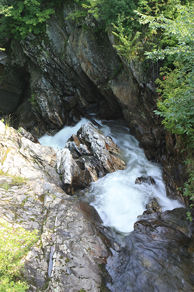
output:
[[[38,240],[37,231],[11,227],[0,219],[0,292],[25,292],[27,283],[19,280],[21,259]]]

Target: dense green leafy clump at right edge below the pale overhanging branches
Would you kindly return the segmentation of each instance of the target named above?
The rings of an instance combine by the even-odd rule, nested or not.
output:
[[[186,134],[194,143],[194,75],[186,73],[177,61],[175,70],[163,68],[158,79],[161,97],[158,99],[156,114],[164,117],[162,124],[176,134]]]

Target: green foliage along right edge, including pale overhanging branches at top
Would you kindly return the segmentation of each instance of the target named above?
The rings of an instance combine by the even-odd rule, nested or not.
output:
[[[175,46],[166,46],[164,49],[154,49],[146,52],[148,58],[154,60],[167,58],[173,61],[174,70],[163,68],[159,83],[158,110],[155,113],[162,116],[162,123],[172,133],[182,137],[183,145],[194,154],[194,6],[176,6],[178,17],[174,20],[164,16],[152,17],[142,15],[140,22],[148,24],[157,34],[162,29],[163,35],[176,40]],[[186,141],[186,143],[185,143]],[[187,160],[188,161],[188,160]],[[194,200],[194,170],[184,183],[183,195]],[[193,208],[194,204],[191,203]],[[192,220],[191,212],[188,219]]]

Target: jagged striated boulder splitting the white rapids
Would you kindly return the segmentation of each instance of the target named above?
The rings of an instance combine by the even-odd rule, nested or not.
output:
[[[74,193],[107,173],[124,169],[125,162],[114,156],[120,151],[110,137],[92,124],[82,125],[77,136],[72,135],[65,148],[56,153],[65,191]]]

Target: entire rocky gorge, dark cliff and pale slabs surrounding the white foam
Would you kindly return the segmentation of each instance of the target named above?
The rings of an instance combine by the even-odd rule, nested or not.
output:
[[[22,259],[29,292],[192,291],[193,225],[177,190],[186,179],[178,137],[153,112],[157,97],[141,62],[117,55],[102,20],[67,19],[73,9],[80,8],[64,4],[56,11],[44,35],[9,41],[2,58],[0,110],[13,114],[21,134],[0,122],[0,218],[39,231]],[[92,125],[94,114],[125,120],[146,158],[162,165],[167,196],[181,207],[162,211],[152,198],[129,234],[104,226],[79,192],[123,171],[126,162],[112,138]],[[37,138],[82,116],[91,123],[62,149],[39,144]],[[136,183],[154,181],[146,176]]]

